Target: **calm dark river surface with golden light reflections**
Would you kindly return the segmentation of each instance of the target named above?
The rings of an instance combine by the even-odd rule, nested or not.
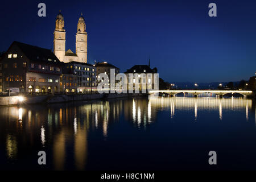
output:
[[[255,170],[255,113],[255,100],[208,97],[0,107],[0,168]]]

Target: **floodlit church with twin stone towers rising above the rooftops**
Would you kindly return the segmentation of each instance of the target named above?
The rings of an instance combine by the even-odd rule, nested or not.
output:
[[[73,53],[71,49],[66,51],[66,31],[64,28],[64,16],[61,14],[61,12],[57,14],[53,40],[53,53],[60,61],[63,61],[64,63],[69,63],[71,61],[87,63],[88,34],[85,31],[85,27],[85,20],[81,14],[77,23],[76,53]]]

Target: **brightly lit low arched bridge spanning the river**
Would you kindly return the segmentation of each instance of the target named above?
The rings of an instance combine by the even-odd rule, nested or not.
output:
[[[157,94],[157,93],[167,93],[172,96],[175,96],[176,94],[179,94],[179,93],[191,93],[195,97],[203,93],[214,93],[219,97],[222,97],[228,93],[232,93],[232,94],[239,93],[239,94],[242,94],[243,96],[253,96],[253,91],[250,91],[250,90],[151,90],[149,92],[149,94]]]

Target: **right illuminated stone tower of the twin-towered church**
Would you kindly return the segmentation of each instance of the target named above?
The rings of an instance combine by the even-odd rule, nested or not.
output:
[[[76,55],[79,62],[87,63],[87,32],[85,31],[85,20],[82,14],[77,24]]]

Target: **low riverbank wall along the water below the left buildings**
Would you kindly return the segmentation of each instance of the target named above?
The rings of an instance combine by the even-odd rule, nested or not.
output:
[[[113,98],[129,98],[147,96],[147,94],[73,94],[73,95],[46,95],[46,96],[10,96],[0,97],[0,106],[11,106],[19,104],[52,104],[59,102],[108,100]],[[22,99],[20,99],[22,98]],[[22,100],[22,101],[21,101]]]

